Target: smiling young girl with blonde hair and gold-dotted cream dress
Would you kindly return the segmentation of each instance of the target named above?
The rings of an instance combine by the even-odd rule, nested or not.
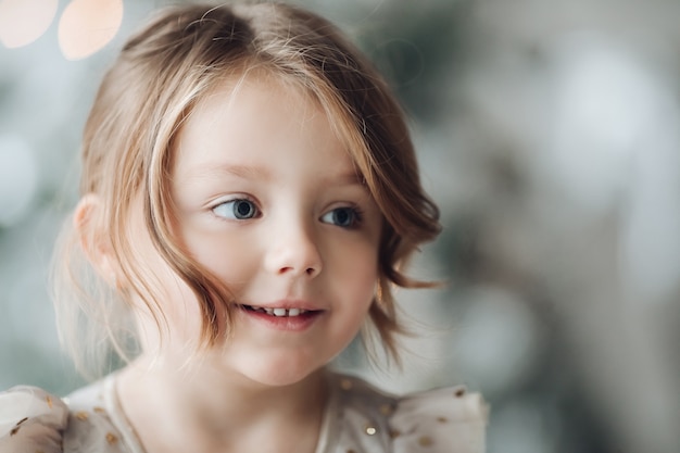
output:
[[[164,11],[103,79],[80,187],[63,340],[130,360],[63,400],[2,393],[0,452],[483,451],[478,395],[327,369],[360,330],[396,358],[390,290],[425,285],[402,264],[440,227],[393,97],[325,20]]]

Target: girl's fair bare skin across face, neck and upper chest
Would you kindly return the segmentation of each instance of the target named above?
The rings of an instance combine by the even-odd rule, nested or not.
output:
[[[144,352],[117,381],[147,453],[313,453],[324,366],[355,337],[375,293],[382,217],[326,114],[272,76],[235,85],[197,105],[172,172],[174,230],[231,291],[234,331],[192,355],[197,301],[148,236],[135,239],[164,289],[169,332],[159,341],[139,310]],[[139,210],[130,222],[141,224]]]

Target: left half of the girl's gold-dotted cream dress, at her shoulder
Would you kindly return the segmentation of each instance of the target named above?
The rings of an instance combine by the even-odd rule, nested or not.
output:
[[[103,383],[60,399],[36,387],[0,393],[0,452],[123,453]]]

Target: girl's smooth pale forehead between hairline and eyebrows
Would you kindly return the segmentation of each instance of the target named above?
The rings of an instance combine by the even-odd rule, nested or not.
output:
[[[314,151],[310,159],[317,165],[325,159],[333,173],[357,180],[348,140],[336,127],[337,121],[341,119],[329,118],[322,103],[298,83],[262,71],[224,78],[184,122],[174,143],[172,173],[200,177],[230,167],[241,177],[267,176],[267,165],[256,164],[285,164],[274,158],[306,149]]]

